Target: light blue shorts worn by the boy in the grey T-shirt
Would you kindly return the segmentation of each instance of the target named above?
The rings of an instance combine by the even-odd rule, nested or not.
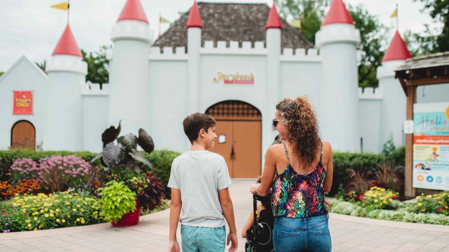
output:
[[[183,252],[224,252],[226,231],[221,228],[181,225]]]

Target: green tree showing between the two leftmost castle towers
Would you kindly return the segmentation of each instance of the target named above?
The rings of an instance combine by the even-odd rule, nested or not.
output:
[[[86,81],[92,83],[99,83],[100,86],[104,83],[109,83],[109,60],[106,59],[106,50],[112,48],[111,45],[103,45],[97,52],[89,52],[81,49],[83,61],[87,63]]]

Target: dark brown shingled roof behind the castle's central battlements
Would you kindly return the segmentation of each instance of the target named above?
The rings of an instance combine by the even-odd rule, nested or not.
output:
[[[198,2],[201,19],[203,21],[202,43],[213,40],[265,41],[265,23],[270,8],[265,3],[219,3]],[[181,15],[173,25],[162,34],[153,46],[187,47],[186,23],[189,11]],[[252,46],[253,43],[252,43]],[[299,32],[282,19],[282,48],[311,48]]]

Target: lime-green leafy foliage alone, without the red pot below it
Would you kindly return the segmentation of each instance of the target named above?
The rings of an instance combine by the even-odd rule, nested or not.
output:
[[[99,188],[100,215],[105,221],[117,221],[125,214],[136,210],[136,193],[131,191],[123,181],[111,180],[106,187]]]

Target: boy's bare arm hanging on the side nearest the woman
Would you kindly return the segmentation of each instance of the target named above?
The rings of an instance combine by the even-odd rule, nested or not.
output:
[[[229,188],[226,187],[223,190],[219,190],[219,200],[220,205],[222,206],[223,215],[225,216],[227,225],[229,226],[229,234],[227,235],[226,245],[229,245],[229,242],[231,242],[229,252],[234,252],[237,250],[237,229],[235,228],[234,208],[229,195]]]

